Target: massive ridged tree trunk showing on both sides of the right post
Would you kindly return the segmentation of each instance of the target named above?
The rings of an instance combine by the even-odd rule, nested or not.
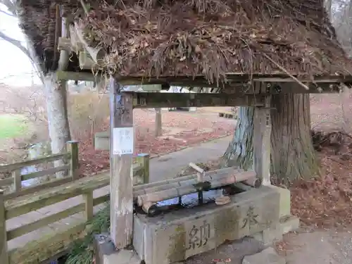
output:
[[[289,183],[319,172],[310,137],[309,94],[272,96],[271,175]],[[249,169],[253,164],[253,107],[239,108],[232,142],[223,156],[224,165]]]

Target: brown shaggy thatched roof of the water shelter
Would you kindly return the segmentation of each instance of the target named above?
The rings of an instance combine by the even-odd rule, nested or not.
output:
[[[46,72],[58,64],[57,4],[78,23],[85,44],[103,52],[98,68],[122,76],[203,75],[212,81],[282,68],[291,75],[352,72],[322,0],[91,1],[88,15],[79,0],[19,4],[20,25]],[[68,70],[80,70],[75,52]]]

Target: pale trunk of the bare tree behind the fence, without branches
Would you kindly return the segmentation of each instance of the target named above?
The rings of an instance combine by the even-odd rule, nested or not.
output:
[[[44,80],[46,95],[46,110],[48,113],[49,136],[52,153],[65,151],[66,142],[71,139],[68,124],[68,108],[66,82],[55,80],[53,75],[47,75]],[[56,161],[55,167],[62,166],[63,161]],[[56,177],[64,177],[63,172],[56,173]]]

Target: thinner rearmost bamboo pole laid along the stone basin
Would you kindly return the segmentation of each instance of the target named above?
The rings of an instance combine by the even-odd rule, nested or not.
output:
[[[244,170],[234,170],[234,168],[225,168],[221,170],[213,170],[206,172],[206,176],[203,177],[204,181],[211,182],[221,177],[227,177],[233,173],[244,172]],[[138,185],[133,188],[133,198],[137,198],[139,195],[151,194],[156,191],[163,191],[167,189],[184,187],[186,185],[196,184],[197,175],[187,175],[172,180],[165,180],[162,182],[153,182],[151,184]]]

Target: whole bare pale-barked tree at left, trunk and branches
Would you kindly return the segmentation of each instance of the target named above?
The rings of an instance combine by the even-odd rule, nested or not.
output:
[[[15,0],[0,0],[0,4],[3,4],[7,8],[7,11],[1,11],[2,15],[11,15],[14,18],[18,17],[18,10],[16,8]],[[65,25],[63,28],[65,28]],[[6,42],[13,44],[13,46],[20,49],[20,51],[22,51],[23,54],[30,59],[39,79],[44,84],[49,136],[51,139],[51,151],[53,153],[63,152],[65,150],[65,143],[71,139],[70,127],[68,123],[66,82],[63,80],[55,80],[54,74],[52,73],[49,73],[48,75],[43,74],[39,65],[39,60],[35,56],[31,43],[27,42],[27,45],[24,46],[17,39],[13,39],[1,31],[0,39],[4,39]],[[60,70],[65,70],[67,63],[68,54],[65,54],[65,51],[63,51],[58,63]],[[58,161],[56,166],[61,164],[62,161]],[[58,174],[58,177],[61,176],[63,175]]]

